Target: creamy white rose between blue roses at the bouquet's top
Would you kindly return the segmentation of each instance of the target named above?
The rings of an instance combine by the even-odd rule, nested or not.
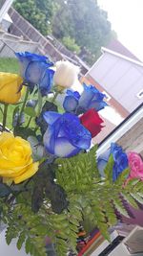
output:
[[[80,69],[71,62],[60,60],[55,63],[55,67],[53,81],[56,85],[69,88],[78,79]]]

